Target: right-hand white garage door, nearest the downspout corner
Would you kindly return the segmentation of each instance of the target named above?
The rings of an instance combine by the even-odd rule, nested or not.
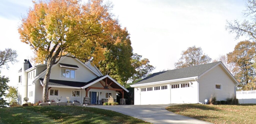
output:
[[[171,104],[190,103],[191,88],[189,83],[171,85]]]

